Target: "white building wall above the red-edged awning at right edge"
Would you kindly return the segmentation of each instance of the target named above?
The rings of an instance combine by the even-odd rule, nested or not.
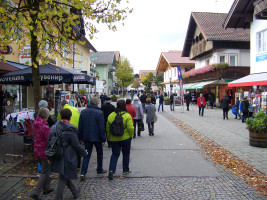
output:
[[[254,18],[253,22],[250,26],[250,59],[251,59],[251,67],[250,73],[260,73],[267,72],[267,51],[262,53],[257,53],[257,32],[263,31],[267,29],[266,20],[257,20]],[[267,42],[267,36],[265,38],[265,42]],[[265,44],[267,45],[267,44]],[[263,59],[258,59],[257,57],[262,57]]]

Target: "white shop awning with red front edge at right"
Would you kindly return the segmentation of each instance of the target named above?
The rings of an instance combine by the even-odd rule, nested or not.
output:
[[[267,85],[267,72],[249,74],[243,78],[228,83],[228,87]]]

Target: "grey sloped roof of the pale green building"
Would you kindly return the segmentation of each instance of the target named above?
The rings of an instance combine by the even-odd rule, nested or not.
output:
[[[98,51],[98,52],[91,52],[90,57],[96,56],[96,64],[97,65],[111,65],[116,60],[115,52],[114,51]]]

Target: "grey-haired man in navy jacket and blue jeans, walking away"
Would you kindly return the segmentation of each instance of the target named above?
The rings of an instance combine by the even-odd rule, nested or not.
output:
[[[88,155],[83,157],[81,180],[84,180],[87,174],[93,146],[97,152],[97,174],[101,175],[107,172],[103,170],[103,146],[106,142],[105,118],[98,107],[98,102],[97,97],[91,98],[90,105],[82,110],[80,115],[78,136],[88,152]]]

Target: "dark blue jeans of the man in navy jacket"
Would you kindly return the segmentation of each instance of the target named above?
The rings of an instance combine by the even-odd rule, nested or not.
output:
[[[87,170],[88,170],[88,164],[90,161],[90,157],[92,154],[93,150],[93,145],[96,148],[96,153],[97,153],[97,173],[101,173],[103,171],[103,148],[102,148],[102,143],[101,142],[85,142],[84,147],[88,152],[87,156],[83,157],[83,164],[82,164],[82,170],[81,174],[86,175]]]

